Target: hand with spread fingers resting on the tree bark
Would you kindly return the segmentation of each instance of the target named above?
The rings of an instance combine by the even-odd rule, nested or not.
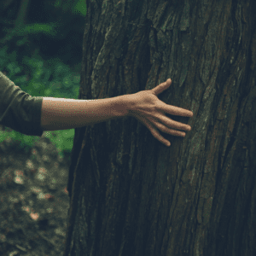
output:
[[[157,97],[161,92],[166,90],[172,84],[171,79],[167,79],[165,83],[157,85],[152,90],[142,90],[130,96],[130,107],[128,109],[128,115],[135,117],[140,123],[146,125],[152,135],[164,143],[167,147],[171,145],[169,141],[160,136],[159,131],[172,134],[173,136],[185,137],[185,132],[177,131],[190,131],[189,125],[184,125],[166,117],[165,113],[172,115],[180,115],[193,117],[193,112],[184,108],[177,108],[172,105],[168,105],[165,102],[160,101]],[[174,129],[171,129],[174,128]],[[175,130],[176,129],[176,130]]]

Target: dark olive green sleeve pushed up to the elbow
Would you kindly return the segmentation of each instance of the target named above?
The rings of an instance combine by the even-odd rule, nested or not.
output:
[[[0,72],[0,125],[41,137],[43,97],[30,96]]]

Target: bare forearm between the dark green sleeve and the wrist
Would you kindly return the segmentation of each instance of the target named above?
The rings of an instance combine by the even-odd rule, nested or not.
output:
[[[126,96],[98,100],[44,97],[41,113],[43,131],[67,130],[117,119],[127,115]]]

